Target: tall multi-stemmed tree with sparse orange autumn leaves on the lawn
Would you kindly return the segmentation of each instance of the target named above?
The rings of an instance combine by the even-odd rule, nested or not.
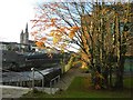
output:
[[[32,36],[42,48],[76,50],[82,67],[92,70],[96,89],[112,86],[112,69],[116,86],[123,87],[123,57],[130,34],[125,29],[131,16],[130,3],[44,2],[32,20]]]

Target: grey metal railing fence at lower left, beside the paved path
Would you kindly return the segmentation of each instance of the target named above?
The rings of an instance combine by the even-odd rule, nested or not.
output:
[[[1,69],[2,70],[2,69]],[[58,70],[58,69],[57,69]],[[60,70],[60,69],[59,69]],[[59,71],[58,70],[58,71]],[[58,73],[58,71],[54,72],[54,68],[51,69],[47,69],[45,71],[40,71],[37,68],[31,68],[31,74],[22,74],[21,72],[16,72],[16,71],[10,71],[10,70],[4,70],[7,72],[3,72],[2,76],[10,76],[9,78],[3,78],[2,83],[3,84],[8,84],[8,86],[17,86],[17,87],[28,87],[28,88],[32,88],[32,90],[34,88],[39,88],[39,86],[41,84],[41,89],[43,89],[44,91],[44,83],[47,80],[49,86],[49,92],[52,93],[52,90],[55,91],[55,89],[53,88],[53,84],[55,84],[59,80],[60,80],[60,74]],[[48,72],[47,72],[48,71]],[[37,72],[41,76],[41,78],[35,78],[34,73],[37,74]],[[47,73],[44,73],[47,72]],[[37,80],[38,79],[38,80]],[[40,83],[41,82],[41,83]],[[38,84],[40,83],[40,84]]]

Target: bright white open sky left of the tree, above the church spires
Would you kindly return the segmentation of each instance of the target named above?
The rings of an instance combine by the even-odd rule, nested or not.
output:
[[[0,41],[20,42],[21,30],[34,18],[34,6],[39,0],[1,0],[0,1]]]

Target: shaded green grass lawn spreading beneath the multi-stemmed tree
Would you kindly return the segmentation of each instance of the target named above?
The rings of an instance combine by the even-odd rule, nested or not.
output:
[[[133,78],[124,79],[124,90],[95,90],[90,87],[89,78],[76,77],[72,81],[71,86],[66,91],[59,91],[58,93],[51,96],[42,92],[32,93],[23,96],[35,97],[35,98],[131,98],[131,87],[133,83]],[[133,87],[132,87],[133,88]]]

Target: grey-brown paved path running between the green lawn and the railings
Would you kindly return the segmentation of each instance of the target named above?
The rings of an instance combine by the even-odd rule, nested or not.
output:
[[[90,73],[83,73],[79,68],[72,68],[62,76],[60,82],[58,82],[54,86],[54,88],[66,90],[75,77],[89,77],[89,76]]]

